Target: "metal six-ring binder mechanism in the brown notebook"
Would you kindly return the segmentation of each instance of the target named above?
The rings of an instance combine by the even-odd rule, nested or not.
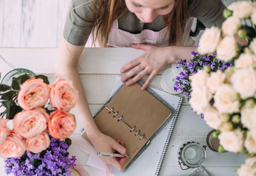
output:
[[[112,108],[109,108],[107,105],[105,105],[105,108],[107,108],[108,110],[109,110],[109,112],[108,112],[108,114],[110,114],[110,113],[112,113],[113,114],[113,117],[117,117],[118,118],[118,122],[119,121],[122,121],[122,122],[124,122],[127,126],[129,126],[129,128],[131,128],[131,130],[130,130],[130,132],[132,132],[132,131],[134,131],[135,132],[135,134],[134,134],[134,136],[137,136],[137,135],[139,135],[140,136],[140,140],[142,140],[143,138],[145,139],[145,140],[147,140],[147,143],[146,143],[146,145],[148,145],[148,143],[150,142],[150,140],[148,140],[146,137],[145,137],[145,133],[143,134],[143,135],[141,135],[141,130],[139,129],[139,130],[137,130],[136,129],[136,126],[134,126],[134,127],[132,127],[128,122],[126,122],[124,119],[123,119],[123,117],[124,117],[124,115],[118,115],[118,111],[116,111],[116,112],[114,112],[114,108],[112,107]]]

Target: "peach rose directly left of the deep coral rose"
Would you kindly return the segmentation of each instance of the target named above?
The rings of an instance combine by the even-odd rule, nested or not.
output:
[[[13,128],[15,133],[30,138],[42,133],[47,128],[49,115],[43,108],[24,110],[14,116]]]

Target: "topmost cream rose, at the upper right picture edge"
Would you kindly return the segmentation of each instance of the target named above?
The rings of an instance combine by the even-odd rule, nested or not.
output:
[[[232,16],[236,16],[238,18],[248,18],[252,14],[252,2],[238,1],[230,4],[228,9],[233,11]]]

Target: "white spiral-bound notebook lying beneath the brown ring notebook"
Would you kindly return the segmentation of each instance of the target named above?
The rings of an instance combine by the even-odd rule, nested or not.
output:
[[[121,82],[121,77],[117,77],[115,84],[113,86],[111,96],[115,91],[123,84]],[[164,127],[159,131],[159,133],[152,139],[150,145],[145,149],[142,154],[132,163],[125,172],[117,170],[113,166],[110,166],[111,174],[113,175],[159,175],[161,166],[163,165],[163,159],[168,149],[168,144],[170,138],[172,137],[173,129],[179,115],[180,106],[182,103],[182,98],[172,94],[168,94],[158,89],[152,88],[161,98],[163,98],[167,103],[173,106],[176,110],[176,114],[173,119],[166,122]],[[87,165],[100,170],[105,170],[105,166],[102,161],[93,156],[89,156]]]

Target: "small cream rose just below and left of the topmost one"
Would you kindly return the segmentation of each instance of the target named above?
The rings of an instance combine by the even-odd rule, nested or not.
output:
[[[222,24],[222,32],[225,36],[231,36],[236,34],[238,29],[241,27],[240,20],[237,17],[229,17]]]

